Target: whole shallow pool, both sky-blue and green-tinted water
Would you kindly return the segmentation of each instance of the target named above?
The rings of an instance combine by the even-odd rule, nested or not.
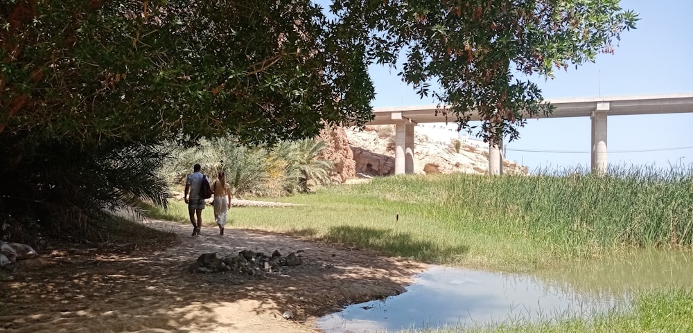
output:
[[[693,287],[693,255],[647,251],[573,262],[532,275],[432,267],[398,296],[324,316],[325,332],[396,332],[444,325],[548,321],[627,307],[635,290]]]

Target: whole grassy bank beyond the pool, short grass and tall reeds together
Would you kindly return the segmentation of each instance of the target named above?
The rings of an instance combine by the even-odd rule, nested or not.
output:
[[[375,179],[277,198],[301,206],[231,208],[229,222],[426,262],[527,271],[631,247],[693,244],[692,170]],[[188,221],[186,206],[150,214]],[[211,207],[205,224],[213,226]]]

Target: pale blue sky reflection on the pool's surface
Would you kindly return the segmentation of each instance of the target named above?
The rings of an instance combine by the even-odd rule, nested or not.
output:
[[[325,332],[392,332],[586,315],[615,305],[613,298],[586,297],[533,276],[434,267],[404,294],[351,305],[320,318],[317,325]]]

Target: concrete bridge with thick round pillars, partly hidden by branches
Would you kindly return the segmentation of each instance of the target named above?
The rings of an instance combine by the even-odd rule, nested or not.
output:
[[[693,113],[693,93],[667,95],[565,98],[547,100],[554,106],[548,117],[592,118],[592,170],[606,172],[606,117],[635,114]],[[436,106],[381,107],[373,109],[374,120],[366,125],[395,125],[395,174],[414,173],[414,126],[420,123],[453,123],[455,116],[435,115]],[[476,111],[471,120],[480,120]],[[502,174],[500,147],[489,146],[489,174]]]

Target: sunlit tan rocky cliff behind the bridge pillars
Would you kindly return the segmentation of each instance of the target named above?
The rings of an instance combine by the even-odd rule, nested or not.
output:
[[[414,129],[416,174],[487,173],[489,153],[484,143],[456,136],[435,135],[432,138],[432,133],[435,133],[432,130],[444,129]],[[357,176],[394,174],[394,125],[367,126],[362,131],[344,128],[324,130],[319,138],[328,143],[323,156],[335,163],[335,182],[343,183]],[[526,174],[527,168],[504,160],[503,172]]]

